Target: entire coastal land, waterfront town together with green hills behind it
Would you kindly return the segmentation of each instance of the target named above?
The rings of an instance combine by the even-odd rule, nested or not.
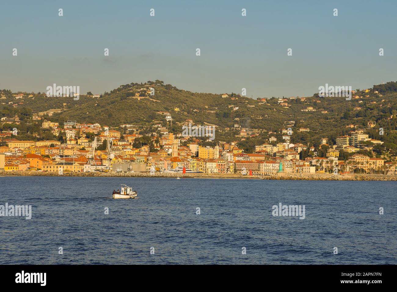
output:
[[[72,100],[4,89],[0,171],[395,176],[394,91],[253,99],[156,80]]]

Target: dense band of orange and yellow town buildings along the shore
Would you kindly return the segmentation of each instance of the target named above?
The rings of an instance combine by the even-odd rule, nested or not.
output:
[[[171,122],[170,112],[157,112]],[[276,131],[269,131],[266,143],[255,145],[254,153],[244,153],[239,147],[242,141],[258,135],[249,128],[239,128],[234,141],[218,141],[215,146],[200,145],[208,139],[173,133],[169,126],[153,122],[148,129],[133,124],[122,124],[117,128],[106,125],[79,123],[67,120],[50,122],[39,114],[33,120],[44,130],[62,141],[19,140],[17,131],[0,133],[3,146],[0,147],[0,170],[4,172],[40,171],[56,172],[197,172],[204,174],[224,173],[266,176],[277,173],[291,174],[397,174],[395,157],[369,157],[361,150],[371,153],[382,141],[370,139],[365,133],[375,123],[368,122],[367,128],[351,128],[349,135],[336,137],[335,143],[323,137],[317,146],[290,143],[295,121],[288,122],[278,131],[282,140],[276,138]],[[2,124],[17,124],[19,117],[2,118]],[[185,126],[192,127],[192,120]],[[146,131],[145,131],[146,130]],[[218,130],[218,129],[217,129]],[[143,134],[146,132],[146,134]],[[216,132],[214,132],[215,134]],[[341,153],[349,154],[343,159]]]

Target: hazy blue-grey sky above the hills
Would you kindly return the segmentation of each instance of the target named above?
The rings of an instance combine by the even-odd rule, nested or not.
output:
[[[396,0],[2,0],[0,89],[103,93],[156,79],[254,98],[363,89],[397,80],[396,12]]]

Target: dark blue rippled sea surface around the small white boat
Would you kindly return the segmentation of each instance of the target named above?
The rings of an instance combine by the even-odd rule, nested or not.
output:
[[[120,184],[139,199],[112,199]],[[32,205],[30,220],[0,217],[0,264],[397,264],[396,186],[0,177],[0,205]],[[272,216],[279,203],[305,219]]]

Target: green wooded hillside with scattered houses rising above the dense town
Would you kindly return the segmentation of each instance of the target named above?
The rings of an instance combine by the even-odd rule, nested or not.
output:
[[[154,95],[150,90],[154,89]],[[152,90],[153,93],[153,90]],[[139,95],[139,96],[136,96]],[[16,99],[15,93],[2,91],[1,116],[21,114],[29,118],[31,113],[51,108],[62,108],[63,111],[47,117],[48,120],[62,122],[67,119],[79,122],[100,123],[118,127],[121,124],[150,126],[155,122],[166,123],[166,115],[157,112],[169,112],[173,118],[174,130],[179,130],[181,123],[187,119],[196,124],[214,124],[224,128],[240,125],[250,131],[261,129],[280,131],[295,121],[293,130],[295,141],[317,141],[321,137],[334,140],[352,128],[367,128],[368,122],[376,122],[376,127],[388,131],[387,143],[397,144],[395,137],[397,114],[397,82],[374,85],[369,91],[357,90],[351,101],[345,97],[294,97],[280,101],[278,98],[256,100],[234,93],[227,97],[212,93],[193,93],[164,83],[160,80],[146,83],[130,83],[105,92],[100,97],[81,95],[78,101],[71,97],[46,97],[44,94],[23,93]],[[13,107],[8,102],[18,103]],[[305,111],[302,111],[305,110]],[[306,111],[307,110],[307,111]],[[297,133],[298,128],[309,128],[309,132]],[[375,128],[374,128],[375,129]],[[353,129],[354,130],[354,129]],[[222,134],[224,140],[231,139],[233,134]],[[372,137],[383,140],[376,131]],[[397,147],[397,146],[396,146]]]

